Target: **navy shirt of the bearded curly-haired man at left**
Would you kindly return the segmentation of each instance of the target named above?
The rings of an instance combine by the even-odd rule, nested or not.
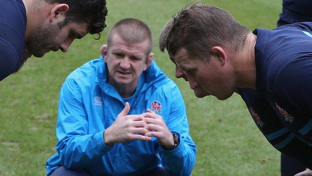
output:
[[[24,55],[26,10],[21,0],[0,0],[0,81],[16,71]]]

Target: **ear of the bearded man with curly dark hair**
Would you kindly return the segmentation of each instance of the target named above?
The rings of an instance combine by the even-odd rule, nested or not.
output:
[[[68,11],[69,7],[66,4],[58,4],[55,5],[50,12],[49,21],[53,23],[61,22],[65,19],[65,13]]]

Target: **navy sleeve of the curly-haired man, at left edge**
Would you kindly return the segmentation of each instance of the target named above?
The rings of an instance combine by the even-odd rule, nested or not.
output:
[[[15,49],[0,38],[0,81],[16,70],[18,56]]]

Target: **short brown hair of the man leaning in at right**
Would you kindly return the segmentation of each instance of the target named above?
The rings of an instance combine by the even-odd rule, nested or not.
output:
[[[238,52],[249,33],[228,12],[197,3],[173,15],[161,31],[159,49],[162,52],[166,49],[172,56],[183,47],[189,55],[204,59],[209,58],[211,48],[217,45]]]

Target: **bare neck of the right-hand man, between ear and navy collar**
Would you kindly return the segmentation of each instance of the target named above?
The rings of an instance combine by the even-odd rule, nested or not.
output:
[[[235,56],[235,74],[237,87],[255,88],[255,58],[254,46],[257,36],[250,33],[246,37],[242,51]]]

